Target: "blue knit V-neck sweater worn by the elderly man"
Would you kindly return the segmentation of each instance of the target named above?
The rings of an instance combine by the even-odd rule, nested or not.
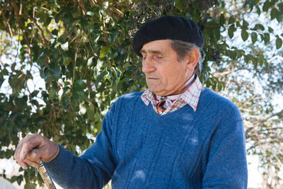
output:
[[[190,105],[158,115],[141,92],[117,99],[82,156],[60,147],[45,163],[63,188],[246,188],[243,120],[236,105],[205,88]]]

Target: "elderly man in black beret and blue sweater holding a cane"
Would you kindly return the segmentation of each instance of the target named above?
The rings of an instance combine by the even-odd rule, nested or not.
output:
[[[194,21],[164,16],[133,40],[146,91],[121,96],[82,156],[30,134],[16,149],[24,168],[42,159],[64,188],[246,188],[243,120],[198,78],[204,37]]]

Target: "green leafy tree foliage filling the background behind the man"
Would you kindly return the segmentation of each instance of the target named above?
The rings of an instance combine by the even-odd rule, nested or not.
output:
[[[259,0],[1,1],[0,158],[10,158],[28,132],[43,134],[74,154],[90,147],[111,103],[146,88],[141,62],[132,52],[134,32],[146,21],[174,14],[202,28],[202,82],[240,106],[248,152],[260,155],[264,170],[271,166],[277,173],[282,149],[270,151],[270,145],[278,150],[282,144],[282,111],[275,113],[271,99],[254,96],[256,88],[247,79],[267,77],[265,95],[282,94],[282,65],[269,59],[282,57],[283,34],[248,16],[257,13],[282,24],[282,12],[281,1]],[[248,45],[233,43],[237,33]],[[36,73],[45,87],[30,84]],[[3,92],[4,86],[9,90]],[[42,184],[32,168],[10,181],[23,179],[26,188]]]

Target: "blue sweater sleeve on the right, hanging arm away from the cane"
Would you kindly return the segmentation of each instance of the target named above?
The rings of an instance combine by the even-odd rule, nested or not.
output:
[[[226,111],[209,139],[203,188],[247,188],[248,168],[243,120],[234,107]]]

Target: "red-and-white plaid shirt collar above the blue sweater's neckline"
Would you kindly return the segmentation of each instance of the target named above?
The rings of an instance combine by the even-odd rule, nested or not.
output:
[[[203,86],[202,83],[200,82],[200,79],[196,76],[195,81],[192,81],[190,86],[187,88],[187,90],[182,93],[180,98],[175,100],[173,104],[168,107],[161,115],[165,115],[166,113],[171,113],[175,110],[178,110],[179,108],[182,108],[184,105],[188,104],[194,109],[195,111],[197,110],[197,104],[199,103],[200,100],[200,93],[203,91]],[[156,105],[158,103],[158,99],[156,99],[156,95],[149,91],[147,89],[142,93],[141,95],[141,100],[144,101],[146,105],[149,105],[149,102],[151,102],[154,110],[156,113],[158,113]]]

